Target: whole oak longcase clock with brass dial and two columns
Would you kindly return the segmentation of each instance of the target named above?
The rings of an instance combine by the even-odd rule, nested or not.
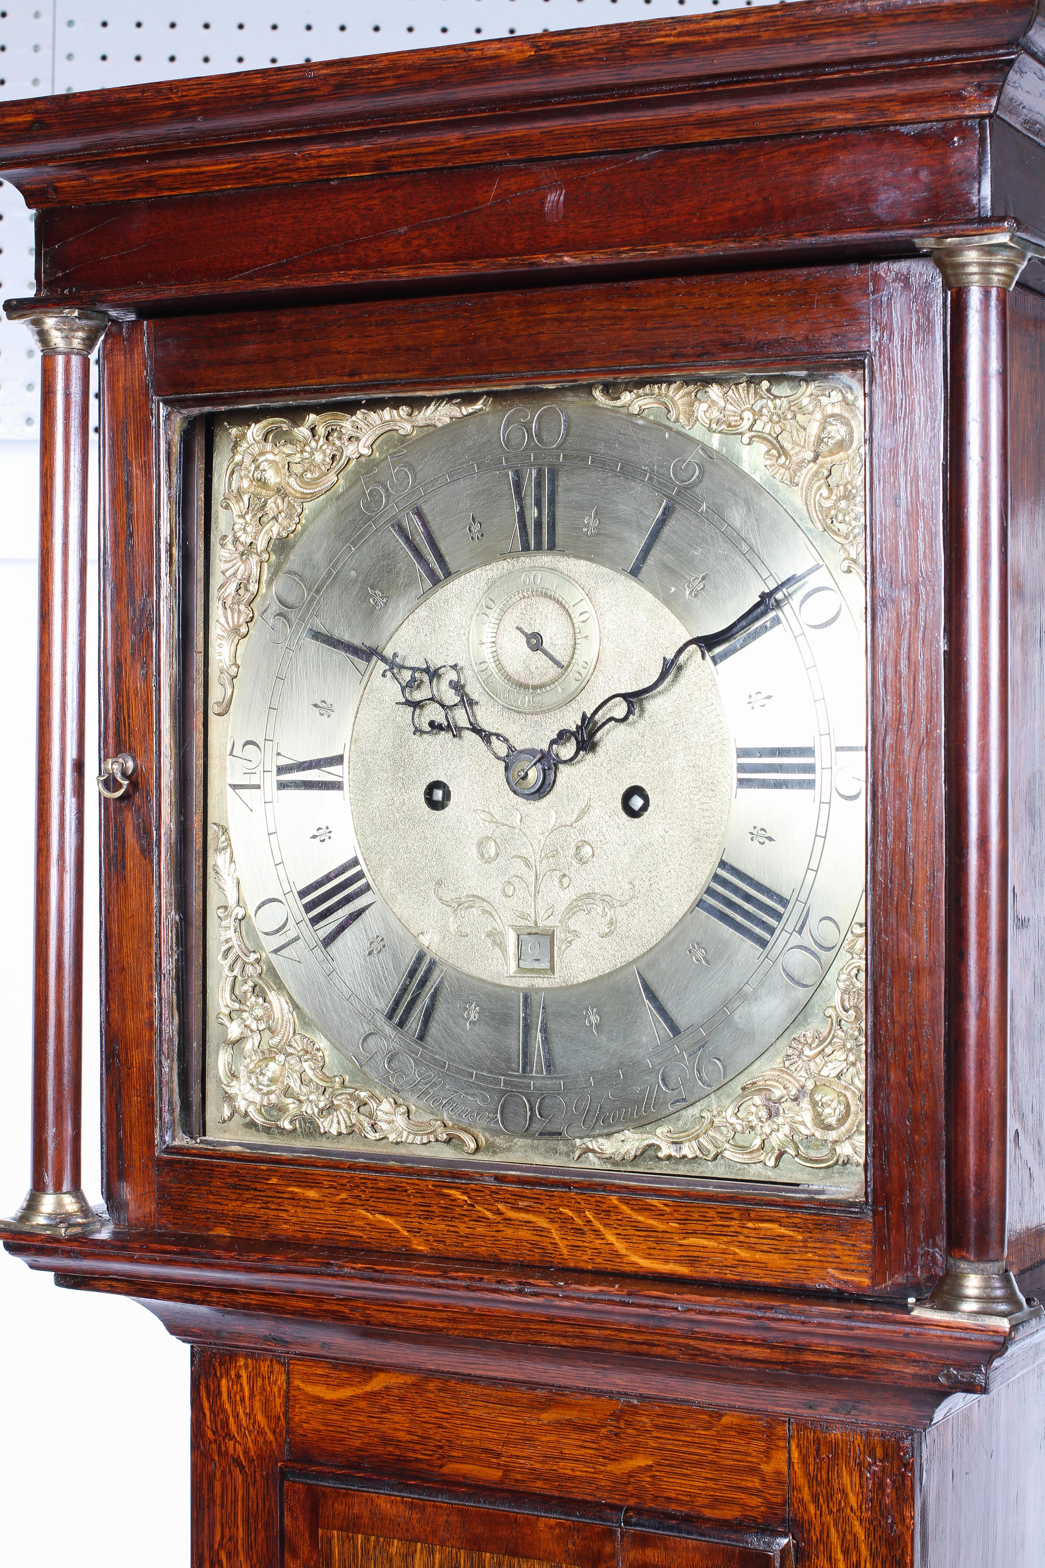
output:
[[[1037,1560],[1043,58],[808,0],[3,108],[3,1239],[194,1347],[199,1568]]]

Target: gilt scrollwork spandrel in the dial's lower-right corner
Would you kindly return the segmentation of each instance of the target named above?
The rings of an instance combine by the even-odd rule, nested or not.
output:
[[[631,1127],[577,1148],[605,1160],[732,1160],[774,1168],[785,1154],[797,1165],[829,1170],[863,1163],[866,927],[854,920],[838,971],[835,1000],[823,1030],[804,1029],[776,1068],[741,1085],[727,1105],[705,1110],[688,1132]]]

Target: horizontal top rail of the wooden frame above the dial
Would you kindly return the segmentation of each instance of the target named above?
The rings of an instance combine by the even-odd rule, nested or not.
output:
[[[854,265],[530,287],[157,320],[150,332],[157,397],[177,403],[379,395],[503,384],[506,376],[525,384],[656,368],[685,375],[765,358],[793,364],[865,353],[870,273]]]

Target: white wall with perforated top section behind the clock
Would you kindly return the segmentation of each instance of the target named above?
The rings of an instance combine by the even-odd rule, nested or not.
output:
[[[456,44],[754,0],[6,0],[0,99],[306,58]],[[772,3],[772,0],[758,0]],[[33,224],[0,187],[0,298],[33,293]],[[0,1210],[28,1185],[36,702],[38,370],[0,325]],[[96,486],[92,485],[92,494]],[[94,528],[94,522],[92,522]],[[92,547],[92,563],[97,552]],[[97,757],[97,582],[88,607],[88,771]],[[97,812],[88,809],[83,1185],[100,1195]],[[0,1253],[0,1560],[11,1568],[188,1563],[188,1350],[147,1311],[56,1290]]]

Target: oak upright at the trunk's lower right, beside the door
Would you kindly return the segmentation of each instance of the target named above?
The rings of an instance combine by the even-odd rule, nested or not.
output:
[[[915,1568],[915,1491],[910,1436],[793,1424],[791,1530],[799,1568]]]

